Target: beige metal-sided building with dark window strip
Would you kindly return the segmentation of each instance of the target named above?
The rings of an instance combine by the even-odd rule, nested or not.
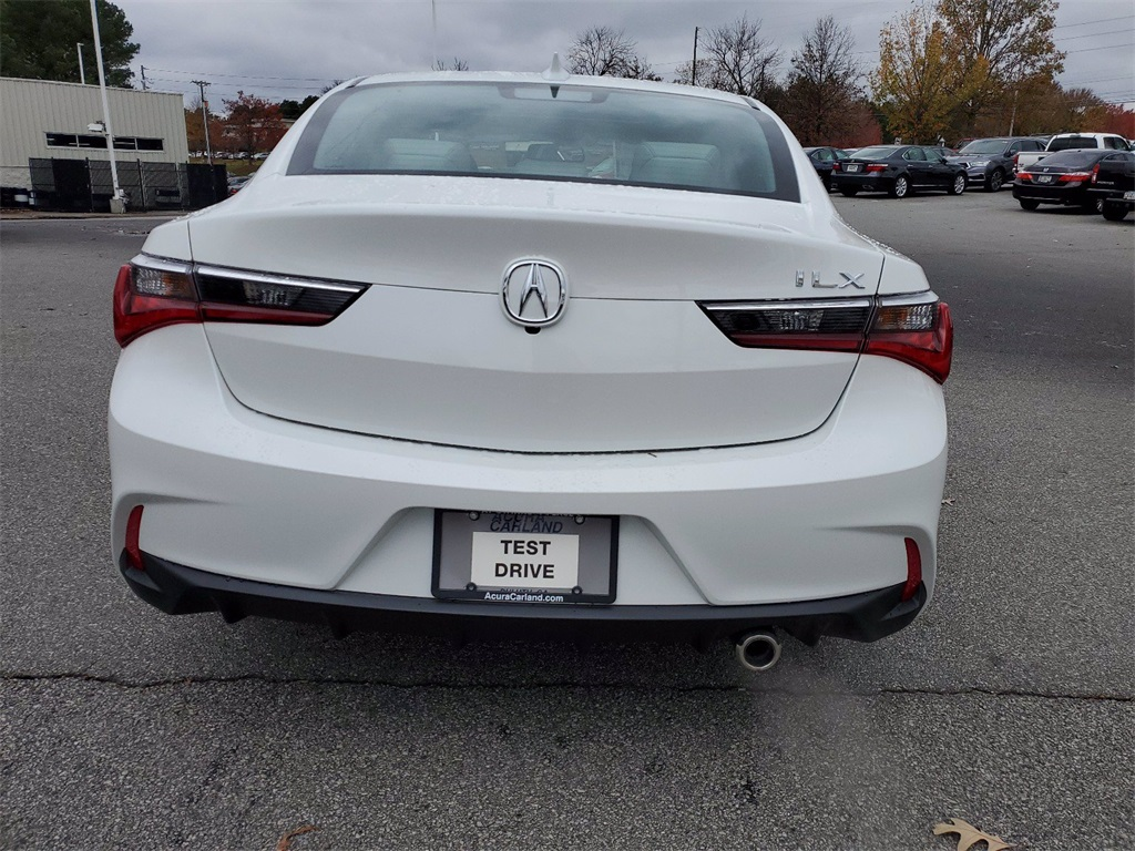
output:
[[[108,89],[107,98],[116,161],[188,161],[180,94]],[[30,159],[106,162],[102,120],[98,85],[0,77],[0,186],[31,187]]]

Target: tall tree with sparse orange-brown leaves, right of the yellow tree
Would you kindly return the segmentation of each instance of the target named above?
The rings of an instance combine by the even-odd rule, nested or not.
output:
[[[938,0],[935,11],[952,60],[974,71],[969,96],[951,116],[958,135],[1002,113],[1026,83],[1051,82],[1063,70],[1065,54],[1052,41],[1057,0]]]

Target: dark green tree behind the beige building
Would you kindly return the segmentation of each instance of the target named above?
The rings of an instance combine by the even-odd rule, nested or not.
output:
[[[98,9],[107,85],[129,87],[138,52],[134,27],[112,2],[101,0]],[[82,43],[86,79],[98,82],[87,0],[0,0],[0,76],[78,83],[75,45]]]

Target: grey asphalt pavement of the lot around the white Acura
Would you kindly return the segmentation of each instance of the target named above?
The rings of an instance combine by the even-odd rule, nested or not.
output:
[[[938,595],[874,644],[354,634],[135,599],[110,288],[157,219],[0,222],[0,848],[1135,848],[1135,222],[835,197],[957,326]]]

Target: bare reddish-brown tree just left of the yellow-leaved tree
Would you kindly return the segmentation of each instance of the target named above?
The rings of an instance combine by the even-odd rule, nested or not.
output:
[[[861,124],[863,71],[855,36],[829,15],[819,18],[792,54],[781,115],[806,145],[840,144]]]

